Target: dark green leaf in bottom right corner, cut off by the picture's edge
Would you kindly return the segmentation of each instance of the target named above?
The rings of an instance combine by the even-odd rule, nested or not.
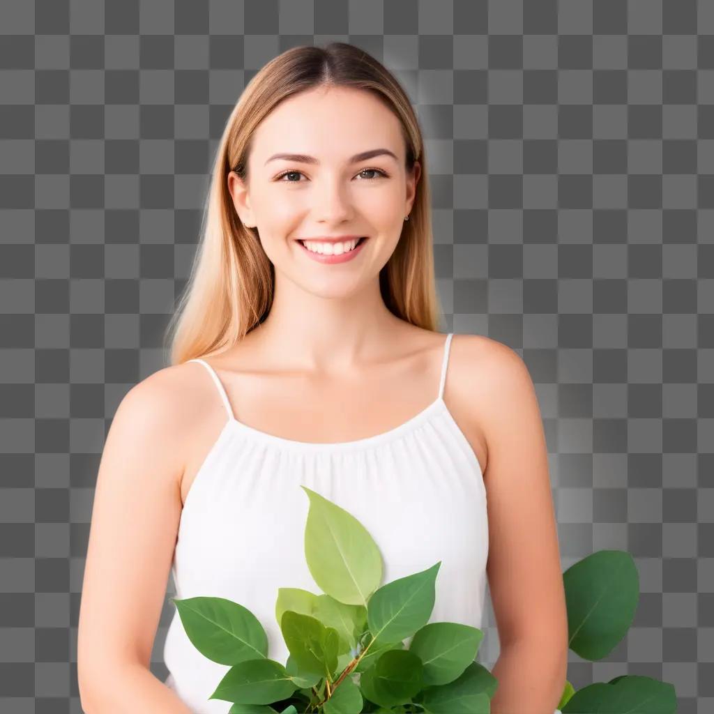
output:
[[[677,695],[671,684],[623,675],[616,682],[578,689],[561,710],[563,714],[675,714]]]

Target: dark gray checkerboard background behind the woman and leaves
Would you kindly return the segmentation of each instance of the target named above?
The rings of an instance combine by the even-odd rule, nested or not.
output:
[[[273,56],[331,40],[416,106],[445,327],[528,364],[563,570],[636,560],[628,637],[570,653],[570,680],[648,675],[714,710],[714,2],[4,0],[0,32],[2,712],[81,711],[106,429],[165,366],[228,112]]]

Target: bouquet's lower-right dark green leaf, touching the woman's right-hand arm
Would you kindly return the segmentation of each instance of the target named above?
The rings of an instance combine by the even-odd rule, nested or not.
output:
[[[488,714],[498,681],[478,662],[472,662],[460,677],[448,684],[426,687],[414,703],[425,714]]]

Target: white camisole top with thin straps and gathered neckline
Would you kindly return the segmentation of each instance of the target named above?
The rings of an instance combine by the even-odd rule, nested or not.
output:
[[[307,486],[372,535],[382,553],[382,585],[441,560],[428,621],[481,628],[486,488],[476,453],[443,399],[452,337],[446,336],[438,396],[429,406],[390,431],[335,443],[293,441],[243,424],[213,368],[188,360],[208,371],[228,421],[183,506],[171,563],[176,598],[228,598],[248,608],[266,630],[268,657],[284,665],[289,652],[275,618],[278,588],[321,593],[305,562],[309,499],[300,486]],[[230,667],[191,644],[176,610],[164,662],[166,685],[193,713],[228,713],[231,703],[208,697]]]

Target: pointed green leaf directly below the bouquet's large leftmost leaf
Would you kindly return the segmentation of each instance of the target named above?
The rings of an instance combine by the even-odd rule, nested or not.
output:
[[[281,663],[246,660],[233,665],[208,698],[238,704],[270,704],[288,698],[296,688]]]

